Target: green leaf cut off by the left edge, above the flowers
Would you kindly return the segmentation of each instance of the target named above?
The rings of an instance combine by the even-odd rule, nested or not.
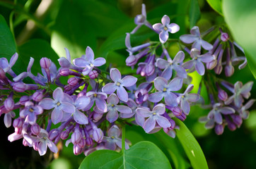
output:
[[[0,15],[0,57],[10,60],[16,52],[16,42],[6,23],[6,20]]]

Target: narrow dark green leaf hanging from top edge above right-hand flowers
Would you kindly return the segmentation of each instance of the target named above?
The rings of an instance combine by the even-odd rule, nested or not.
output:
[[[200,18],[200,8],[198,4],[198,0],[190,1],[190,29],[196,25],[197,21]]]

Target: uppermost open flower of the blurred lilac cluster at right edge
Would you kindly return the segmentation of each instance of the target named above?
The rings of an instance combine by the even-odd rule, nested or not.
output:
[[[236,107],[240,107],[243,104],[243,97],[248,99],[250,97],[250,90],[252,89],[253,82],[248,82],[243,85],[242,82],[235,82],[233,95],[230,96],[225,104],[231,104],[234,101]]]

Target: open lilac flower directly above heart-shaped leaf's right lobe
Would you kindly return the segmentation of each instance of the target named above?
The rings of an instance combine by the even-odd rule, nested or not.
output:
[[[167,118],[163,117],[163,113],[165,113],[165,105],[164,104],[157,104],[153,107],[152,111],[149,111],[146,108],[137,108],[136,112],[139,113],[144,118],[148,118],[143,128],[146,133],[149,133],[153,130],[156,126],[156,122],[163,128],[170,127],[170,122]]]

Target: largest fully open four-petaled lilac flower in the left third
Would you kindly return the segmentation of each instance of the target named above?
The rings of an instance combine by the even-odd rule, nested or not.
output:
[[[64,93],[62,91],[62,88],[58,87],[54,90],[52,94],[53,99],[45,98],[40,101],[39,106],[44,108],[45,110],[50,110],[52,108],[52,123],[56,125],[57,123],[62,120],[63,111],[67,113],[75,113],[76,108],[72,104],[68,102],[64,102]]]

